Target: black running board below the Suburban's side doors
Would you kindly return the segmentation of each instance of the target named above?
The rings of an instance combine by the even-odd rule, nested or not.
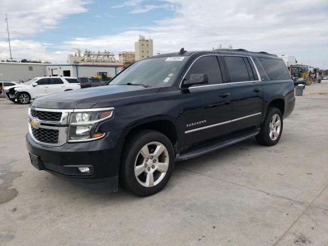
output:
[[[234,145],[237,142],[246,140],[248,138],[254,137],[256,136],[258,133],[260,132],[260,129],[255,129],[255,130],[251,130],[251,131],[247,131],[247,132],[242,132],[242,133],[238,133],[235,134],[231,137],[227,137],[227,138],[223,138],[217,141],[213,141],[210,142],[207,145],[202,145],[199,147],[195,147],[192,150],[187,151],[186,153],[182,153],[180,154],[177,158],[176,161],[180,161],[180,160],[188,160],[191,158],[195,158],[219,149],[222,149],[224,147],[230,146],[230,145]]]

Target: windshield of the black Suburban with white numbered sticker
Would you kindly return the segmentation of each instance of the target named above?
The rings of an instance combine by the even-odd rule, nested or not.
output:
[[[109,85],[171,86],[186,60],[186,56],[138,60],[113,78]]]

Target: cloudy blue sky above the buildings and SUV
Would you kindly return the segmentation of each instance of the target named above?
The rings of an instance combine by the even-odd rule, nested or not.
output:
[[[328,69],[327,0],[1,0],[0,59],[66,63],[74,49],[134,51],[139,34],[154,54],[221,44],[294,55]],[[1,21],[2,19],[2,21]]]

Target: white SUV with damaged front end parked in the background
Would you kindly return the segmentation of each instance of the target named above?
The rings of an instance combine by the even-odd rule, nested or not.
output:
[[[14,103],[28,104],[40,96],[77,89],[81,86],[74,77],[37,77],[24,84],[7,87],[5,95]]]

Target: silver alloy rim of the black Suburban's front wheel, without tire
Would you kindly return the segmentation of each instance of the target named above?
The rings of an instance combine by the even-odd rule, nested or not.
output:
[[[150,142],[141,148],[134,163],[134,175],[144,187],[154,187],[169,169],[169,152],[160,142]]]

